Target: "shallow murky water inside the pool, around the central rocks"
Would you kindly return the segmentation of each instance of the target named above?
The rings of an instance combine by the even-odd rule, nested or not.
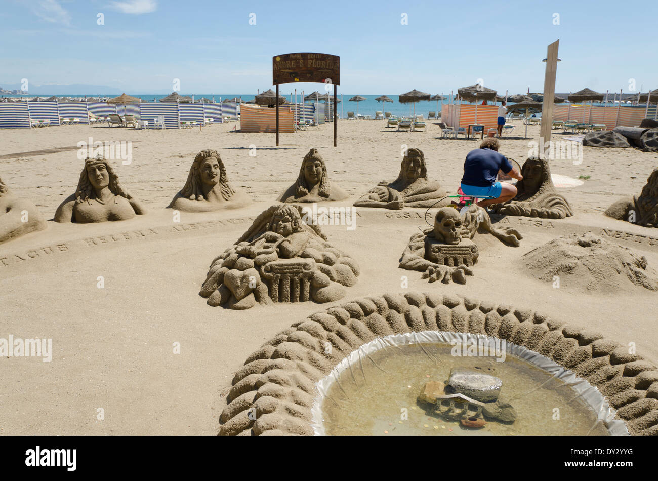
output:
[[[562,380],[506,353],[494,357],[453,357],[448,343],[388,347],[346,368],[322,403],[330,436],[606,436],[592,409]],[[374,365],[374,363],[376,365]],[[500,399],[517,410],[513,424],[487,422],[464,428],[417,401],[430,380],[447,383],[453,367],[492,374],[503,380]],[[386,371],[386,372],[384,372]],[[551,379],[552,378],[552,379]]]

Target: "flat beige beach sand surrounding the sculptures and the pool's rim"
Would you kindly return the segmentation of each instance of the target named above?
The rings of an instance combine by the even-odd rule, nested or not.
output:
[[[517,124],[513,136],[503,138],[501,153],[523,163],[528,140],[522,136],[525,126]],[[397,177],[403,145],[420,148],[430,178],[454,192],[465,155],[479,144],[439,139],[440,129],[431,122],[427,132],[384,126],[340,121],[335,149],[329,124],[281,134],[278,148],[274,134],[234,132],[235,122],[202,131],[84,125],[0,130],[0,177],[49,219],[46,230],[0,244],[0,338],[53,340],[50,363],[0,358],[0,434],[216,434],[224,395],[247,356],[292,322],[329,307],[299,303],[231,311],[209,307],[198,295],[211,261],[290,186],[309,148],[320,151],[330,180],[351,196],[331,205],[351,205],[377,182]],[[528,136],[538,138],[539,127],[530,126]],[[104,224],[51,221],[76,188],[82,168],[76,145],[89,137],[132,141],[132,163],[114,165],[122,186],[150,209],[147,215]],[[164,207],[202,149],[220,152],[230,182],[254,203],[181,213],[174,223]],[[427,226],[422,209],[359,209],[355,230],[323,227],[330,242],[361,266],[359,282],[338,303],[404,291],[401,277],[407,276],[411,290],[528,307],[620,343],[634,342],[640,355],[655,362],[655,291],[633,286],[584,293],[572,279],[555,289],[528,276],[522,255],[556,237],[591,231],[630,247],[657,268],[658,229],[603,215],[619,197],[640,193],[656,166],[657,155],[636,149],[584,147],[579,165],[552,161],[553,174],[590,176],[581,186],[559,189],[574,216],[501,221],[522,232],[520,247],[476,237],[480,258],[465,285],[428,284],[420,272],[397,267],[409,238]],[[99,276],[103,289],[97,288]],[[174,343],[180,343],[180,354]],[[99,408],[104,420],[97,419]]]

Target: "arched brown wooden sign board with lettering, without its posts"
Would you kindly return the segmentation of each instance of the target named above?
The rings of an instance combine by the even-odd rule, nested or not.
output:
[[[272,57],[272,84],[322,82],[340,85],[340,57],[327,53],[286,53]]]

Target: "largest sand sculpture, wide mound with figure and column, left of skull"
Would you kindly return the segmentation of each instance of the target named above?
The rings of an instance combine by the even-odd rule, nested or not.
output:
[[[332,247],[295,205],[273,205],[213,260],[199,295],[211,306],[337,301],[357,282],[356,261]]]

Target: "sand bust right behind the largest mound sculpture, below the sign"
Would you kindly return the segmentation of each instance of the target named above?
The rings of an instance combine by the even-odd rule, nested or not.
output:
[[[279,202],[340,201],[349,195],[329,181],[324,159],[318,149],[311,149],[301,161],[299,176],[280,197]]]

